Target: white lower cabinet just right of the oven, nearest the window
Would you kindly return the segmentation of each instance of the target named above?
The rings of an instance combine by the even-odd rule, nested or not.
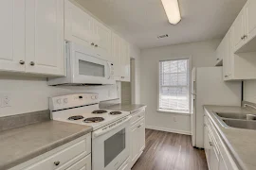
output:
[[[131,127],[130,168],[136,163],[145,148],[145,110],[134,113]]]

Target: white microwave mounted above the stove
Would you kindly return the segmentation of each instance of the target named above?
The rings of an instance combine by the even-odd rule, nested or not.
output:
[[[70,42],[73,82],[81,84],[115,84],[113,63],[96,57],[94,49]]]

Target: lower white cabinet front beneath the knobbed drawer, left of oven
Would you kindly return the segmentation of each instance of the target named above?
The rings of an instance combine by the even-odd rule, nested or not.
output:
[[[91,154],[89,154],[81,161],[76,162],[66,170],[91,170],[91,167]]]

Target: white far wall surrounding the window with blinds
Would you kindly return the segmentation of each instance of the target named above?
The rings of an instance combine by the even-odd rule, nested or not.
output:
[[[221,40],[192,42],[144,49],[140,58],[140,100],[148,106],[146,126],[166,131],[190,134],[190,115],[157,110],[158,61],[192,57],[192,67],[214,66],[215,50]]]

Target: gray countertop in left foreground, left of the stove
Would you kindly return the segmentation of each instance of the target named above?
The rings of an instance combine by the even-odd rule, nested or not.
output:
[[[46,121],[0,132],[0,169],[9,169],[92,131],[92,127]]]

